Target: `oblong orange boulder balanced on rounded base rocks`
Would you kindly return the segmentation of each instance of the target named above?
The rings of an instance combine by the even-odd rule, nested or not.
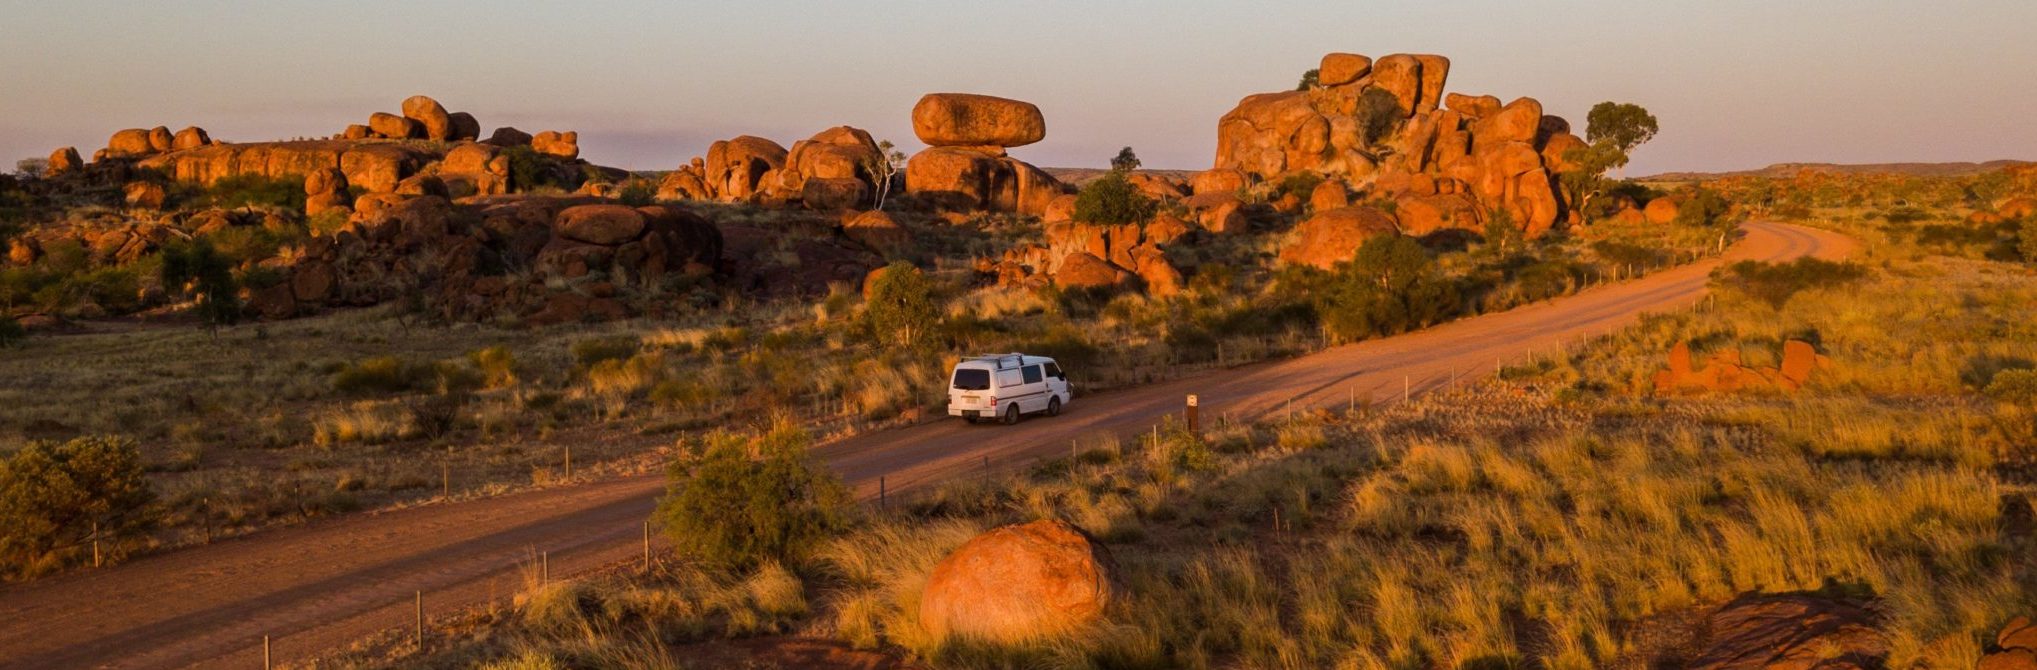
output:
[[[1057,179],[1004,153],[1047,136],[1031,102],[927,94],[913,106],[913,134],[927,149],[906,161],[906,193],[939,208],[1045,214],[1065,193]]]

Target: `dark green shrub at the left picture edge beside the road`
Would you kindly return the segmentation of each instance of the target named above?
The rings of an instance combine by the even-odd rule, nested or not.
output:
[[[118,556],[122,542],[155,523],[155,491],[134,440],[39,440],[0,460],[0,570],[8,576],[86,556],[94,538],[114,544]]]

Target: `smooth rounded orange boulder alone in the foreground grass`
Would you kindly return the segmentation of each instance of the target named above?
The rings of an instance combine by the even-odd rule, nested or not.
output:
[[[1116,597],[1110,552],[1065,521],[994,527],[947,554],[919,599],[935,637],[1029,641],[1076,631]]]

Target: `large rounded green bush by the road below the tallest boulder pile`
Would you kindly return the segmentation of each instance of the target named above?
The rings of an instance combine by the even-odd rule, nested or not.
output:
[[[1324,330],[1340,340],[1430,326],[1456,310],[1456,285],[1442,277],[1420,242],[1406,236],[1365,240],[1316,303]]]

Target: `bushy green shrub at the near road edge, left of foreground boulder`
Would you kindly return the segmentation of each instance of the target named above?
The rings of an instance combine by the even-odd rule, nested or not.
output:
[[[697,460],[666,470],[652,519],[680,554],[721,568],[796,562],[849,521],[854,501],[833,470],[807,456],[794,426],[746,440],[705,438]]]

